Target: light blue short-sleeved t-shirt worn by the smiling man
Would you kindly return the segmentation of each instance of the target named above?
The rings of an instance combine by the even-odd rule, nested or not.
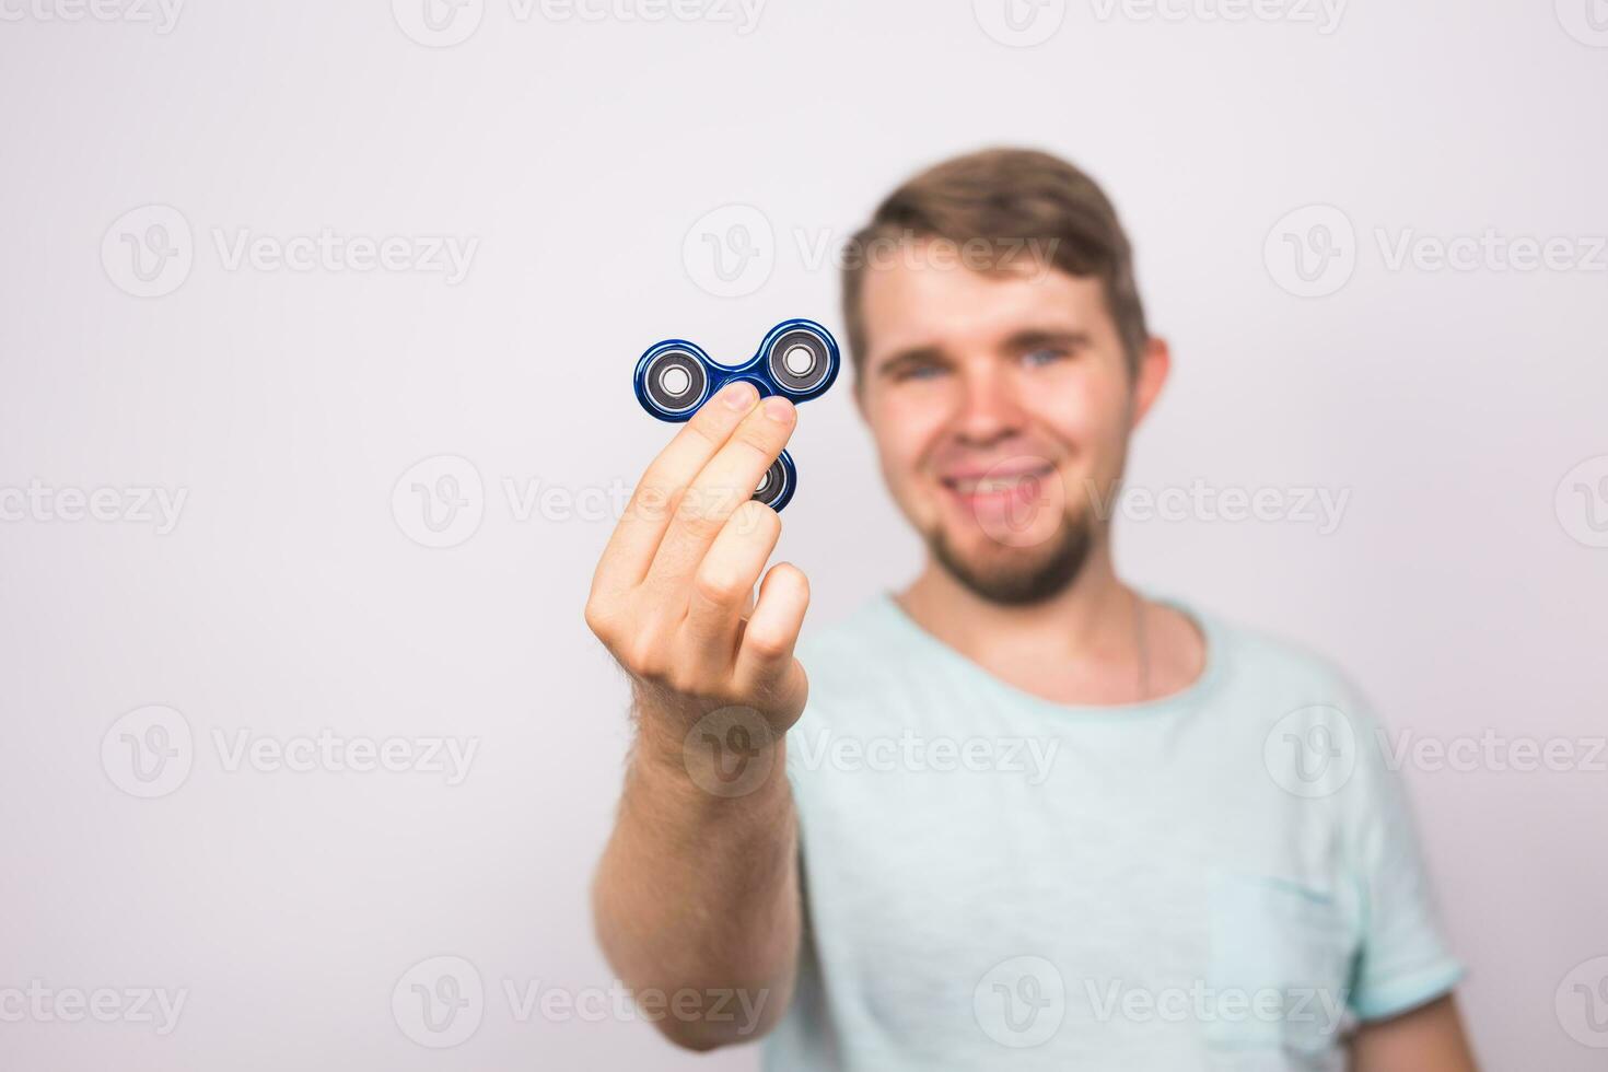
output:
[[[767,1069],[1341,1069],[1357,1021],[1452,988],[1364,701],[1179,609],[1200,680],[1119,707],[1005,685],[891,598],[801,648],[806,935]]]

